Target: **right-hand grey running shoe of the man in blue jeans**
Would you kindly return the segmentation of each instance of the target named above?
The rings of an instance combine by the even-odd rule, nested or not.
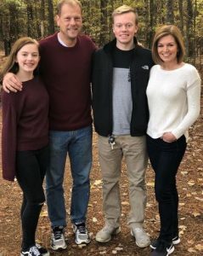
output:
[[[84,223],[73,224],[73,232],[76,234],[76,244],[87,244],[90,242],[90,237]]]

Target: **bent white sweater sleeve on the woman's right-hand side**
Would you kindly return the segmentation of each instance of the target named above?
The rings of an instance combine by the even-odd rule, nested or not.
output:
[[[182,122],[176,129],[172,131],[177,139],[181,137],[189,127],[193,125],[200,114],[200,75],[195,68],[192,73],[189,73],[189,81],[187,84],[187,107],[188,111],[185,114]]]

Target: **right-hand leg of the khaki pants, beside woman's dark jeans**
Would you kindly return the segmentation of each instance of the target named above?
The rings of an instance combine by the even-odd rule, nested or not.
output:
[[[121,136],[121,147],[127,162],[127,177],[129,181],[129,199],[131,211],[128,224],[142,227],[147,195],[145,173],[148,164],[146,137]]]

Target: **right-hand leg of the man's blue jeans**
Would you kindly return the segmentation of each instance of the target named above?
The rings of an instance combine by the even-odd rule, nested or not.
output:
[[[70,218],[75,224],[86,222],[90,195],[89,174],[93,160],[92,138],[92,125],[73,131],[68,148],[73,179]]]

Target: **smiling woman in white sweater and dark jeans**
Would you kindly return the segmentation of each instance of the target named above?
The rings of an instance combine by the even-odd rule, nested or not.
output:
[[[155,171],[161,231],[150,247],[151,256],[166,256],[180,242],[176,174],[187,146],[189,126],[200,114],[200,76],[194,66],[183,62],[183,37],[177,26],[157,30],[152,55],[157,65],[150,70],[147,88],[147,146]]]

